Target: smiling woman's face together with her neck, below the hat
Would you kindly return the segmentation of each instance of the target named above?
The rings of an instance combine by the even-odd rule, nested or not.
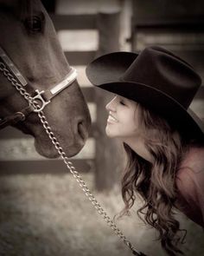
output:
[[[145,146],[147,138],[140,123],[139,108],[137,102],[116,95],[106,105],[109,115],[105,132],[109,137],[117,137],[128,144],[143,159],[153,162],[153,158]]]

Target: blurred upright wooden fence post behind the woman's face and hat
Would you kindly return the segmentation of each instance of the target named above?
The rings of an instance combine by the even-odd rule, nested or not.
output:
[[[99,51],[97,56],[119,50],[120,11],[98,14]],[[107,111],[105,105],[112,95],[102,89],[95,89],[97,104],[95,184],[99,191],[111,189],[120,180],[123,168],[123,155],[118,141],[105,135]]]

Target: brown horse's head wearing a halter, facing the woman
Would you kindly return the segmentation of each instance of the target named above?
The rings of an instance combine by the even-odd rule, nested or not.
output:
[[[91,117],[76,72],[68,64],[54,25],[40,0],[0,0],[0,47],[2,59],[4,56],[11,62],[10,67],[15,66],[16,72],[13,73],[18,75],[16,78],[22,82],[22,87],[37,92],[36,101],[43,100],[42,92],[57,89],[52,100],[43,100],[43,107],[46,105],[43,113],[67,156],[78,154],[86,143]],[[4,122],[34,136],[35,150],[39,154],[57,157],[58,152],[37,111],[29,111],[26,118],[22,114],[21,109],[28,109],[28,106],[26,99],[12,86],[8,75],[0,72],[1,121],[11,120]],[[13,116],[19,113],[22,120],[12,122]]]

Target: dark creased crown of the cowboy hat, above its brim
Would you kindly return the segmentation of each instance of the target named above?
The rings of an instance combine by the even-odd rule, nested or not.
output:
[[[143,49],[120,81],[145,84],[173,98],[186,109],[201,86],[201,77],[188,62],[156,46]]]

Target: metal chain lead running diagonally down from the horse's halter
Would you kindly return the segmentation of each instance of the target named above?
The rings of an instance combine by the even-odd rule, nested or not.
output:
[[[33,98],[31,97],[31,95],[29,95],[29,93],[22,87],[22,85],[19,82],[17,82],[16,78],[10,73],[10,70],[6,68],[3,62],[0,62],[0,70],[3,72],[3,75],[5,75],[7,79],[12,83],[12,85],[20,92],[20,94],[29,102],[29,104],[31,104],[34,108],[40,108],[37,102],[33,101]],[[96,208],[97,212],[102,216],[102,218],[105,220],[107,225],[111,226],[114,233],[116,233],[118,237],[121,240],[123,240],[124,244],[131,249],[131,252],[134,255],[141,255],[141,253],[137,252],[134,246],[132,246],[131,242],[126,239],[126,237],[120,231],[118,226],[116,226],[113,220],[111,220],[111,218],[107,215],[105,210],[100,206],[99,201],[96,200],[96,198],[94,197],[90,189],[86,186],[86,182],[82,180],[79,172],[73,166],[73,163],[68,160],[66,153],[61,148],[60,142],[54,136],[54,133],[52,132],[52,128],[50,128],[48,124],[46,116],[43,114],[42,111],[39,111],[37,115],[39,116],[41,123],[43,125],[43,128],[45,128],[45,131],[48,134],[48,137],[54,144],[54,148],[56,148],[56,150],[58,151],[58,154],[60,154],[61,159],[64,161],[69,172],[73,174],[74,179],[79,183],[81,189],[86,194],[86,197],[91,201],[92,206]]]

